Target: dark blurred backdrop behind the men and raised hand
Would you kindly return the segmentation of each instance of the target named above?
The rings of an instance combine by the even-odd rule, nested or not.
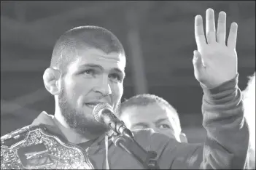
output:
[[[255,1],[1,1],[1,116],[53,111],[42,74],[56,39],[80,25],[107,28],[123,43],[128,58],[124,98],[136,92],[133,63],[139,54],[147,92],[165,98],[181,114],[201,113],[193,24],[195,15],[205,17],[209,7],[215,16],[227,13],[227,30],[238,23],[239,86],[244,89],[255,71]]]

